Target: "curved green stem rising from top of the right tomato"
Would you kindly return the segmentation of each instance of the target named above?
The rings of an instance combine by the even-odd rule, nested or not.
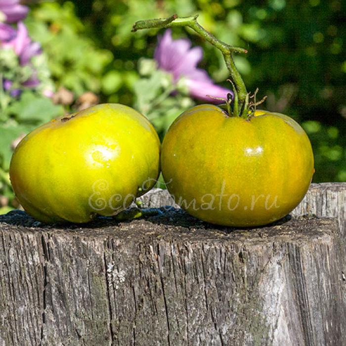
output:
[[[193,29],[197,34],[202,36],[206,41],[213,44],[217,49],[221,51],[229,74],[235,84],[233,116],[241,116],[243,118],[247,118],[249,111],[249,96],[248,92],[246,91],[244,81],[239,71],[235,67],[233,60],[233,53],[247,53],[247,50],[240,47],[234,47],[217,40],[214,35],[209,33],[207,30],[201,27],[201,25],[198,24],[197,17],[198,15],[178,17],[176,14],[173,14],[173,16],[166,19],[140,20],[133,24],[132,32],[141,29],[172,28],[181,26]]]

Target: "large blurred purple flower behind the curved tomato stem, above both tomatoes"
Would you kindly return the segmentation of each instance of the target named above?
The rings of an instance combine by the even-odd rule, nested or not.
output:
[[[217,86],[206,71],[197,68],[202,57],[202,48],[199,46],[191,48],[190,40],[173,41],[171,30],[166,30],[164,35],[159,37],[154,52],[154,59],[158,63],[158,68],[172,73],[174,83],[184,77],[183,81],[191,96],[210,103],[222,103],[224,101],[216,100],[207,95],[227,99],[227,94],[233,95],[233,92]]]

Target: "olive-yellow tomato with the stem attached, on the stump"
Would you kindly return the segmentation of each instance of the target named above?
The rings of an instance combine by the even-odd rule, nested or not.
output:
[[[311,182],[310,141],[286,115],[248,120],[214,105],[182,113],[162,143],[169,192],[192,216],[227,226],[259,226],[289,214]]]

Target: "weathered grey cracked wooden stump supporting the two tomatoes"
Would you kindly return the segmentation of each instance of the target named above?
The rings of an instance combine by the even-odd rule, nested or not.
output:
[[[0,216],[0,345],[346,345],[345,195],[312,184],[292,217],[252,229],[179,208],[64,227]]]

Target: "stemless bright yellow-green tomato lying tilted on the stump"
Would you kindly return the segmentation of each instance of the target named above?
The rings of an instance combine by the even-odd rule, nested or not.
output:
[[[9,173],[20,204],[36,219],[87,222],[119,213],[155,185],[160,140],[134,109],[99,104],[30,132]]]

